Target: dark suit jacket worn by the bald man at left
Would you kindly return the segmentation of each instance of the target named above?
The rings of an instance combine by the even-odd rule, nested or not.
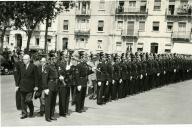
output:
[[[29,63],[27,69],[24,64],[20,65],[18,84],[22,92],[33,92],[34,87],[38,87],[37,67],[34,64]]]

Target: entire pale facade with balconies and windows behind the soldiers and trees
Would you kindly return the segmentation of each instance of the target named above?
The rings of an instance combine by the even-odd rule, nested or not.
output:
[[[40,25],[34,33],[30,48],[44,48],[44,29]],[[57,16],[48,35],[49,50],[192,54],[192,1],[76,0]],[[22,40],[24,48],[25,37],[10,31],[9,45]]]

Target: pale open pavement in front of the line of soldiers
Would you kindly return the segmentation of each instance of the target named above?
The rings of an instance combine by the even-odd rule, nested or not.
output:
[[[87,111],[74,112],[67,118],[46,122],[38,117],[39,100],[35,100],[35,117],[20,119],[15,105],[13,76],[1,76],[1,125],[128,125],[128,124],[189,124],[192,123],[192,80],[164,86],[145,93],[129,96],[106,105],[98,106],[95,100],[85,101]]]

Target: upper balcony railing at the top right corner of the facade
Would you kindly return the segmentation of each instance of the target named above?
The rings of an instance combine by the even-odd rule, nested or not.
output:
[[[167,9],[167,16],[192,16],[192,8],[175,8],[175,9]]]

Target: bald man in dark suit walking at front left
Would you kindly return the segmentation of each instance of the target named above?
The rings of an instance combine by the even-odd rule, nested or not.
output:
[[[33,106],[33,92],[38,90],[38,78],[37,78],[37,67],[30,63],[30,56],[23,56],[23,63],[20,65],[20,72],[18,77],[18,86],[21,92],[21,109],[22,117],[21,119],[27,118],[27,106],[29,107],[30,113],[29,117],[33,116],[34,106]]]

